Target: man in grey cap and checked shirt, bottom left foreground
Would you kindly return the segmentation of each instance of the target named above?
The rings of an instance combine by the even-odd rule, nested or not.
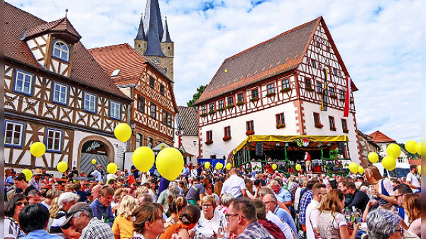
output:
[[[95,217],[89,204],[85,202],[78,202],[68,209],[61,228],[70,227],[82,233],[80,239],[114,239],[111,227]]]

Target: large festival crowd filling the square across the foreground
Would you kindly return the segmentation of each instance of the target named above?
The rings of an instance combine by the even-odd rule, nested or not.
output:
[[[28,180],[6,169],[4,238],[297,239],[420,237],[420,177],[290,174],[185,165],[155,174],[76,169]],[[92,180],[93,182],[89,182]]]

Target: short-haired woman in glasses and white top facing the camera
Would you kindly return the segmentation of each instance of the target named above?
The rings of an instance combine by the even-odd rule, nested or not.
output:
[[[216,209],[216,199],[212,195],[202,199],[202,215],[195,228],[190,231],[191,238],[208,238],[220,233],[225,223],[224,213]],[[195,237],[193,237],[195,235]]]

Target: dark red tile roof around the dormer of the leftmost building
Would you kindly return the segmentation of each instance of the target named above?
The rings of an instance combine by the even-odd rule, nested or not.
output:
[[[62,18],[59,24],[53,24],[58,30],[59,28],[70,29],[69,21]],[[58,21],[54,21],[58,23]],[[53,22],[53,23],[54,23]],[[28,45],[23,40],[20,40],[25,30],[33,30],[33,34],[41,33],[38,26],[50,26],[45,21],[37,18],[36,16],[22,11],[21,9],[12,6],[11,4],[4,3],[4,56],[24,64],[31,65],[31,67],[38,68],[45,71],[43,66],[39,65],[33,57],[33,53],[28,49]],[[29,30],[27,31],[27,33]],[[77,32],[75,32],[77,33]],[[74,33],[73,33],[74,34]],[[77,33],[78,34],[78,33]],[[28,36],[28,35],[27,35]],[[109,94],[114,94],[120,98],[128,99],[114,84],[113,81],[105,74],[102,67],[90,55],[84,45],[78,42],[74,45],[74,52],[72,57],[72,69],[70,79],[74,82],[85,84],[94,89],[104,91]],[[63,76],[61,76],[63,77]],[[67,77],[65,77],[67,78]]]

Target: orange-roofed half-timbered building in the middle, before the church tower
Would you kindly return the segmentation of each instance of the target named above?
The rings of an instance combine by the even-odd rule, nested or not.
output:
[[[173,82],[164,68],[148,61],[129,44],[89,50],[121,91],[133,99],[129,150],[153,148],[159,143],[173,145],[178,106]]]

